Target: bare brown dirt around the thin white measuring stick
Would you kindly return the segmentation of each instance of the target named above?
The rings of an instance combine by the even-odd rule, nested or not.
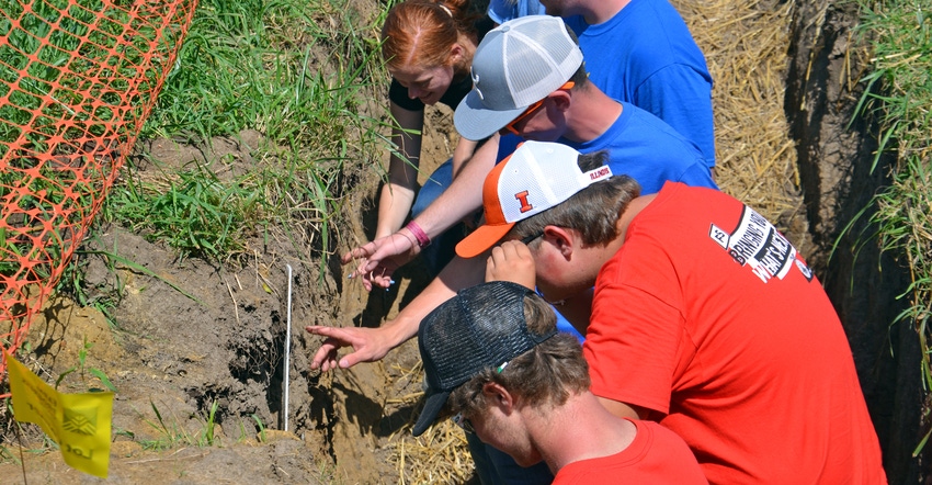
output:
[[[427,128],[425,172],[446,159],[455,139],[448,110],[432,110]],[[225,160],[236,173],[252,163],[257,133],[215,139],[212,148],[156,140],[140,146],[134,170],[159,177],[193,160]],[[341,250],[366,237],[377,177],[367,178],[350,199]],[[353,232],[355,229],[355,232]],[[113,313],[117,328],[92,307],[67,295],[48,302],[30,328],[33,369],[54,382],[78,365],[83,342],[86,369],[100,369],[117,388],[114,441],[107,483],[395,483],[399,455],[389,444],[409,424],[420,393],[417,345],[409,342],[376,364],[328,375],[311,373],[308,358],[319,345],[305,325],[378,325],[427,283],[420,264],[402,271],[390,292],[367,294],[342,277],[331,261],[322,282],[316,266],[303,264],[289,243],[252,241],[253,252],[238,264],[215,267],[179,260],[173,251],[121,227],[104,227],[86,250],[118,255],[138,267],[105,256],[84,256],[90,292],[118,291]],[[293,269],[289,426],[284,429],[283,353],[287,318],[287,264]],[[236,268],[236,269],[234,269]],[[68,374],[62,391],[102,387],[89,374]],[[217,437],[206,445],[212,406]],[[77,472],[25,429],[24,464],[12,429],[3,445],[15,460],[0,464],[3,483],[96,482]],[[410,431],[408,431],[410,432]],[[52,451],[52,452],[42,452]],[[38,453],[36,453],[38,452]],[[10,458],[10,456],[4,456]],[[8,481],[9,480],[9,481]]]

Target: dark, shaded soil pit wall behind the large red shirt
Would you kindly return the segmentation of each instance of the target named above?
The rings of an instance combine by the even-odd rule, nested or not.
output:
[[[923,483],[929,447],[912,456],[922,438],[919,341],[911,322],[893,325],[909,274],[878,250],[867,223],[896,160],[883,155],[872,170],[879,131],[875,120],[855,116],[870,56],[853,31],[857,21],[854,2],[795,2],[785,111],[815,245],[807,258],[845,327],[887,477]]]

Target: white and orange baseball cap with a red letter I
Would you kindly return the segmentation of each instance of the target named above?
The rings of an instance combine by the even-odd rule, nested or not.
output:
[[[583,172],[579,151],[558,143],[525,142],[497,165],[482,185],[486,222],[456,245],[461,258],[495,246],[519,221],[556,206],[587,187],[612,177],[607,165]]]

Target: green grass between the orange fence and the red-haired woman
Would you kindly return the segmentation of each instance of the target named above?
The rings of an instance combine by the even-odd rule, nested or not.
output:
[[[346,5],[202,1],[141,136],[209,145],[253,129],[262,135],[250,154],[257,162],[234,178],[217,173],[236,160],[192,162],[158,180],[130,171],[104,219],[182,257],[226,261],[270,237],[291,240],[307,262],[332,251],[348,172],[360,160],[379,167],[385,143],[380,122],[360,114],[382,87],[371,79],[385,78],[375,31],[360,31]]]

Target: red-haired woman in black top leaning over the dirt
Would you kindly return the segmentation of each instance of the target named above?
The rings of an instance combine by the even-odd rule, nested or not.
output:
[[[388,165],[388,183],[378,199],[375,239],[391,235],[411,213],[423,211],[453,180],[455,169],[467,160],[476,144],[459,140],[453,158],[443,163],[414,193],[421,155],[424,106],[441,102],[456,109],[473,88],[469,66],[479,40],[492,27],[487,16],[469,11],[469,0],[408,0],[396,4],[382,27],[382,54],[391,74],[388,98],[397,122],[391,140],[398,147]],[[445,235],[421,253],[436,274],[453,257],[462,230]]]

